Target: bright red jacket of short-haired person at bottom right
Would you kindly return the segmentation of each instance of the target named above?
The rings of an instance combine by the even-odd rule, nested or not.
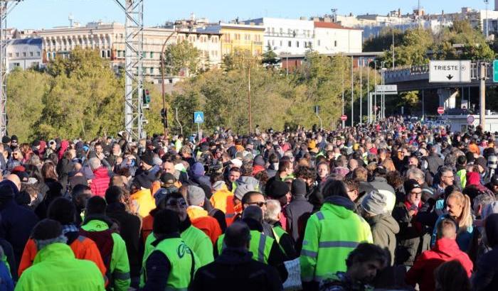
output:
[[[406,282],[410,285],[418,283],[420,291],[433,291],[435,290],[434,270],[450,260],[460,261],[470,277],[473,264],[467,253],[460,251],[455,239],[440,238],[433,248],[418,256],[413,267],[406,273]]]

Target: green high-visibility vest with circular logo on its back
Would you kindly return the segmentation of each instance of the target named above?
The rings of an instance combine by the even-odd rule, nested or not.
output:
[[[198,258],[191,248],[181,238],[166,238],[157,244],[154,251],[164,253],[171,265],[166,290],[186,291],[191,280],[194,280],[191,277],[194,277],[196,270],[200,267]],[[191,274],[192,264],[194,264],[194,273]],[[144,275],[147,278],[146,272]]]

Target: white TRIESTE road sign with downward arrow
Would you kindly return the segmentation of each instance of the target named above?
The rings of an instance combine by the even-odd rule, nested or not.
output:
[[[429,82],[470,82],[470,60],[431,60],[429,64]]]

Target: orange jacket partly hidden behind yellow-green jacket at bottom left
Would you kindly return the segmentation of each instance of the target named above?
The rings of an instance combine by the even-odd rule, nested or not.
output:
[[[78,236],[73,243],[70,244],[70,248],[75,253],[75,257],[80,260],[91,260],[97,268],[99,268],[100,273],[105,278],[107,284],[107,278],[105,276],[105,265],[100,256],[99,249],[94,241],[85,236]],[[23,256],[21,257],[21,262],[19,263],[18,275],[21,277],[22,273],[31,265],[33,265],[33,260],[36,257],[36,244],[32,238],[28,239],[26,246],[24,246]]]

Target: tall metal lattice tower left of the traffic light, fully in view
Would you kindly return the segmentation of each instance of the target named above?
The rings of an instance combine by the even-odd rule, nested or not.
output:
[[[142,95],[144,89],[144,0],[115,0],[126,16],[124,65],[124,126],[128,138],[145,138]]]

